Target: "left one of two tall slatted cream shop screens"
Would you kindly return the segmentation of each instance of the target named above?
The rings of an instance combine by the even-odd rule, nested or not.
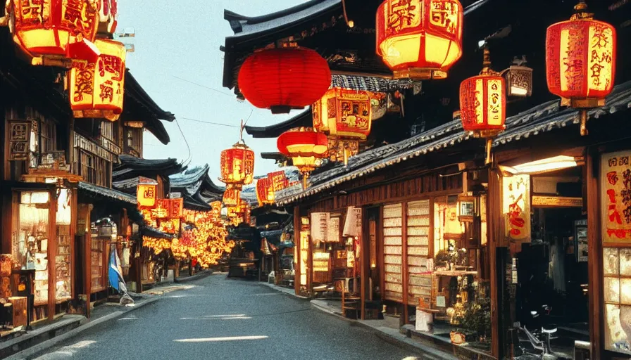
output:
[[[403,302],[403,221],[402,205],[387,205],[383,207],[383,242],[384,242],[384,271],[386,300]]]

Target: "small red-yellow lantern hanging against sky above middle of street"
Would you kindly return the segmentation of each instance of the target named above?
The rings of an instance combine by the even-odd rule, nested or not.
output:
[[[245,143],[235,143],[221,152],[221,178],[229,186],[242,188],[254,179],[254,151]]]

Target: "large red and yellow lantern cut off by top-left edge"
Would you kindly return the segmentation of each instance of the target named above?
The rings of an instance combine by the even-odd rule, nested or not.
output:
[[[101,3],[94,0],[9,0],[7,13],[13,41],[34,65],[46,59],[96,62],[92,41],[99,25]],[[59,65],[51,63],[51,65]]]

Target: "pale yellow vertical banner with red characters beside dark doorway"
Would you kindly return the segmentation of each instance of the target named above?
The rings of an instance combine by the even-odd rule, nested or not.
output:
[[[530,175],[502,178],[502,211],[506,237],[530,242]]]

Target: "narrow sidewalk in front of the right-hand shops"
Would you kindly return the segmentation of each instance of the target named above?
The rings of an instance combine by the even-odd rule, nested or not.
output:
[[[261,283],[261,285],[268,286],[269,288],[273,288],[274,290],[280,291],[281,293],[285,293],[288,295],[292,295],[294,297],[299,297],[301,299],[307,299],[307,297],[297,296],[294,293],[293,289],[283,288],[281,286],[273,285],[270,283]],[[390,342],[399,347],[405,347],[406,349],[410,349],[413,352],[419,354],[418,359],[428,359],[428,360],[458,360],[457,356],[450,354],[449,352],[444,352],[431,345],[425,344],[418,338],[408,338],[405,333],[410,333],[404,327],[404,333],[401,333],[399,330],[399,319],[392,318],[387,316],[384,320],[351,320],[342,316],[341,308],[338,306],[339,302],[328,301],[328,300],[311,300],[311,305],[320,311],[324,311],[327,314],[331,314],[332,316],[337,316],[340,319],[344,319],[345,321],[353,321],[361,326],[364,326],[373,332],[383,340]]]

